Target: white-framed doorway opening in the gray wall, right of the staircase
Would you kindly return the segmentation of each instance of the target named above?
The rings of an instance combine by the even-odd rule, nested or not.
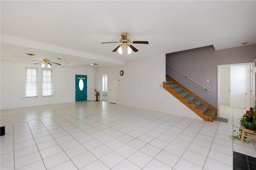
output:
[[[220,104],[250,109],[255,106],[255,63],[218,65],[218,116]]]

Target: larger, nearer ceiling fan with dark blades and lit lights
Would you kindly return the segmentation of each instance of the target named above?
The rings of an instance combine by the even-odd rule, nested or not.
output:
[[[107,43],[121,43],[118,45],[112,52],[118,51],[119,54],[122,54],[122,51],[126,51],[127,54],[131,54],[132,51],[137,52],[138,49],[136,49],[131,44],[148,44],[148,41],[130,41],[130,39],[127,37],[127,33],[121,34],[120,40],[118,42],[104,42],[101,44],[107,44]]]

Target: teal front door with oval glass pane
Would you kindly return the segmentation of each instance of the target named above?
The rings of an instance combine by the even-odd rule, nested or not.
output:
[[[76,102],[87,100],[87,76],[76,75]]]

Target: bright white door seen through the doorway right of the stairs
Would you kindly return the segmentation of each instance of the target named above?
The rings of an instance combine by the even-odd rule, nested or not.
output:
[[[230,66],[230,107],[247,107],[247,67],[248,65]]]

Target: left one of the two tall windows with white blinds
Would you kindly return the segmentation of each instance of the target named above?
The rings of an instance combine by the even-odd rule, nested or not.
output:
[[[26,92],[25,97],[38,97],[37,68],[26,68]]]

